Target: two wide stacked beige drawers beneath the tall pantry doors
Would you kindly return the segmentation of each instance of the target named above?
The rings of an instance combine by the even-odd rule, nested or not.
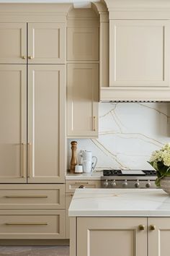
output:
[[[65,239],[65,184],[1,184],[0,239]]]

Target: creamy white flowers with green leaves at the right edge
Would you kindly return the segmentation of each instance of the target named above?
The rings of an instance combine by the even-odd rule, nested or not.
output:
[[[160,186],[161,179],[164,176],[170,176],[170,143],[167,143],[160,150],[153,151],[148,163],[153,166],[157,172],[156,186]]]

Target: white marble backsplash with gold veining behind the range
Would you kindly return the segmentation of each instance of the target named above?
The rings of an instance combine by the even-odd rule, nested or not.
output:
[[[170,142],[170,103],[99,103],[99,138],[75,140],[78,155],[83,149],[97,156],[98,169],[151,169],[153,150]]]

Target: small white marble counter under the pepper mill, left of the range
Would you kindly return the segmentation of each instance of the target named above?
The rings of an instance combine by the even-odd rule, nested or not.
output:
[[[83,174],[66,174],[66,180],[71,179],[91,179],[91,180],[100,180],[103,176],[103,171],[93,171],[90,173]]]

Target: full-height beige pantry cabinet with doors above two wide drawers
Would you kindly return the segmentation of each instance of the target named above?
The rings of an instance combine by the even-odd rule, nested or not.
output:
[[[1,4],[1,239],[65,238],[66,14],[70,7]]]

